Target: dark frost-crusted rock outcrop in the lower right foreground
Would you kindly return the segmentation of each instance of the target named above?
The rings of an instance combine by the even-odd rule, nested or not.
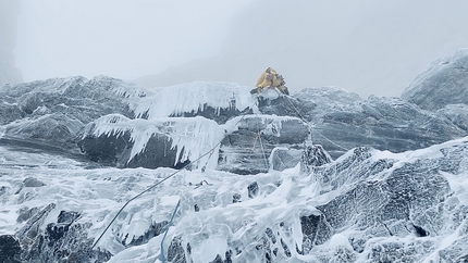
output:
[[[349,242],[354,251],[346,251],[354,254],[352,258],[367,250],[370,262],[396,259],[417,262],[423,259],[421,251],[432,252],[436,246],[431,237],[443,235],[447,224],[454,223],[455,228],[466,224],[466,218],[458,217],[459,213],[467,212],[466,206],[453,196],[449,180],[443,175],[457,176],[459,171],[466,171],[466,141],[458,147],[439,150],[440,158],[397,164],[392,159],[375,159],[372,151],[362,148],[356,149],[340,164],[316,170],[315,176],[323,183],[322,186],[330,186],[330,190],[360,179],[365,184],[355,185],[340,197],[318,205],[320,216],[303,220],[307,229],[320,229],[307,236],[303,250],[310,251],[342,227],[353,225],[356,233]],[[391,236],[412,237],[412,240],[409,247],[398,238],[379,245],[372,241]],[[466,252],[460,250],[466,241],[459,236],[457,241],[454,240],[454,247],[439,251],[441,258],[466,259]],[[367,248],[362,246],[365,243]]]

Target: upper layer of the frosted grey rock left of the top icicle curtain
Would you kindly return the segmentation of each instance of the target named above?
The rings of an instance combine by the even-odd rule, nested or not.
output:
[[[38,117],[52,112],[88,123],[110,113],[133,116],[125,99],[131,96],[130,92],[140,90],[116,78],[98,76],[86,79],[77,76],[3,87],[0,89],[0,97],[10,105],[17,104],[27,116]]]

